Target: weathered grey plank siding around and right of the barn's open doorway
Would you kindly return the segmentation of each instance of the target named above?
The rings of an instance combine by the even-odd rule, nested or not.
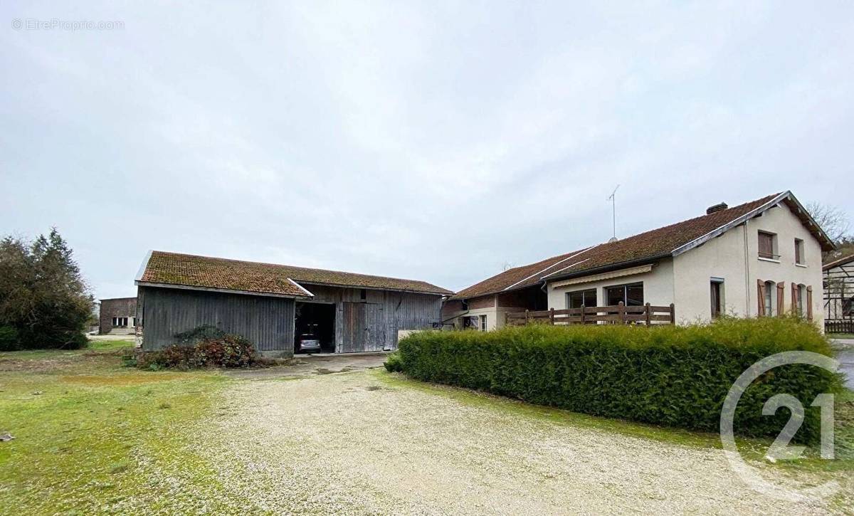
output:
[[[335,303],[335,349],[339,353],[351,351],[356,337],[348,333],[349,326],[344,324],[345,302],[382,305],[382,319],[376,323],[385,326],[382,349],[397,349],[399,330],[429,330],[442,321],[442,296],[436,294],[366,289],[366,299],[363,300],[359,288],[301,284],[314,294],[312,302]]]

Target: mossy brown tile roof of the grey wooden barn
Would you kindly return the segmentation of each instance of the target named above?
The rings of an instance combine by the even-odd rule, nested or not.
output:
[[[305,284],[445,295],[450,290],[414,279],[386,278],[274,263],[151,251],[137,284],[161,284],[200,290],[227,290],[272,296],[311,297]]]

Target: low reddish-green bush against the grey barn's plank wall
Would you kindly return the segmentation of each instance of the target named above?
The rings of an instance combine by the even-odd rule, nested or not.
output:
[[[224,334],[204,338],[194,346],[173,344],[160,351],[143,353],[137,366],[156,371],[164,367],[248,367],[256,361],[258,356],[252,343],[238,335]]]

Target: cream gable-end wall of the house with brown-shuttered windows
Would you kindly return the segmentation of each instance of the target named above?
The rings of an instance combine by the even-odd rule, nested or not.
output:
[[[760,230],[777,234],[779,261],[759,258]],[[805,267],[795,264],[795,238],[804,240]],[[786,283],[783,309],[787,312],[792,308],[792,282],[811,285],[813,320],[822,327],[821,245],[786,205],[770,208],[761,217],[676,256],[673,273],[677,320],[711,319],[712,277],[724,279],[723,302],[727,314],[756,317],[757,279],[761,279]],[[776,299],[776,292],[772,296]]]

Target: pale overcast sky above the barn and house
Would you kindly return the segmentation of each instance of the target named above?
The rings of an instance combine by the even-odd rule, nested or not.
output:
[[[854,214],[854,3],[253,4],[3,2],[0,233],[103,298],[148,249],[459,290],[604,242],[617,185],[618,237]]]

